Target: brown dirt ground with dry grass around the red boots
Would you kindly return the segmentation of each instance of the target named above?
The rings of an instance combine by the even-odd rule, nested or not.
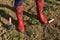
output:
[[[60,40],[60,5],[54,4],[55,10],[43,10],[43,14],[47,19],[55,19],[50,24],[37,25],[28,23],[29,18],[37,18],[35,0],[24,1],[23,20],[25,25],[24,40]],[[44,9],[50,3],[44,3]],[[8,29],[8,18],[12,18],[13,29]],[[14,0],[0,0],[0,40],[18,40],[17,35],[17,17],[14,8]],[[28,30],[33,30],[33,34],[29,36]]]

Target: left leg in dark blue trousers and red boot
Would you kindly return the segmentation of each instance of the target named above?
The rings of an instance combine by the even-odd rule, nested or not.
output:
[[[24,32],[24,24],[23,24],[23,19],[22,19],[23,1],[24,0],[15,0],[16,16],[18,20],[18,29],[20,32]]]

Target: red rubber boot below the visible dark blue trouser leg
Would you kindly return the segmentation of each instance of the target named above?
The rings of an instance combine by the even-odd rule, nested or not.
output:
[[[18,19],[18,29],[20,32],[24,32],[24,23],[22,19],[23,6],[16,6],[16,15]]]

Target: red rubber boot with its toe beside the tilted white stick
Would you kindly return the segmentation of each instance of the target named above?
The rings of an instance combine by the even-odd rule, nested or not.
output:
[[[38,16],[43,23],[47,23],[47,19],[44,17],[43,12],[42,12],[43,11],[43,3],[44,3],[44,0],[36,0]]]

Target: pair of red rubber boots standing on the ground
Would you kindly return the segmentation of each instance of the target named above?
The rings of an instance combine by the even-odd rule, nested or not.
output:
[[[44,0],[36,0],[38,17],[43,23],[47,23],[47,19],[43,16],[43,3]],[[18,29],[20,32],[24,32],[24,23],[22,18],[23,5],[16,6],[16,15],[18,19]]]

